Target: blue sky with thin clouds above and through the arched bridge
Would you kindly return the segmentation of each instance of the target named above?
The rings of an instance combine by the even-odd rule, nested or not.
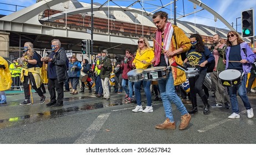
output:
[[[127,2],[129,1],[129,2]],[[8,4],[14,4],[18,6],[30,6],[36,2],[36,0],[0,0],[1,3],[8,3]],[[80,0],[80,2],[90,2],[90,0]],[[98,3],[104,3],[106,0],[94,0],[94,2]],[[113,0],[114,3],[119,4],[120,6],[128,6],[134,0]],[[115,6],[113,2],[109,2],[110,6]],[[142,0],[141,0],[142,2]],[[160,6],[161,3],[159,0],[143,0],[144,2],[144,8],[146,8],[147,11],[151,12],[157,8],[157,6]],[[162,0],[163,5],[167,4],[168,0]],[[241,20],[239,17],[241,17],[241,12],[245,11],[250,8],[256,9],[256,1],[255,0],[201,0],[204,4],[207,6],[211,7],[214,11],[216,11],[218,14],[220,14],[224,19],[227,20],[228,23],[232,25],[234,29],[236,28],[236,18],[237,19],[237,29],[238,32],[241,31]],[[184,7],[183,7],[184,3]],[[195,16],[194,16],[194,11],[199,11],[201,7],[196,7],[196,9],[193,8],[193,3],[188,1],[188,0],[178,0],[176,2],[177,4],[177,18],[181,17],[182,15],[186,15],[189,13],[192,13],[190,16],[186,16],[183,18],[180,18],[179,20],[186,20],[189,22],[195,21]],[[142,8],[139,3],[135,4],[133,6],[134,8]],[[171,11],[172,8],[172,11]],[[15,11],[16,7],[14,6],[8,6],[4,4],[0,4],[0,9],[7,9],[7,10],[12,10]],[[17,7],[17,9],[22,9],[22,7]],[[170,17],[173,18],[173,6],[167,6],[166,8],[163,8],[162,11],[166,11],[168,14],[170,14]],[[256,10],[254,10],[255,14]],[[0,14],[10,14],[12,12],[7,12],[7,11],[0,11]],[[256,20],[256,16],[255,20]],[[205,24],[217,28],[227,28],[226,25],[224,25],[220,20],[217,20],[217,22],[214,22],[214,16],[211,13],[208,13],[206,10],[200,11],[196,13],[196,23],[199,24]],[[254,28],[255,32],[255,28]]]

